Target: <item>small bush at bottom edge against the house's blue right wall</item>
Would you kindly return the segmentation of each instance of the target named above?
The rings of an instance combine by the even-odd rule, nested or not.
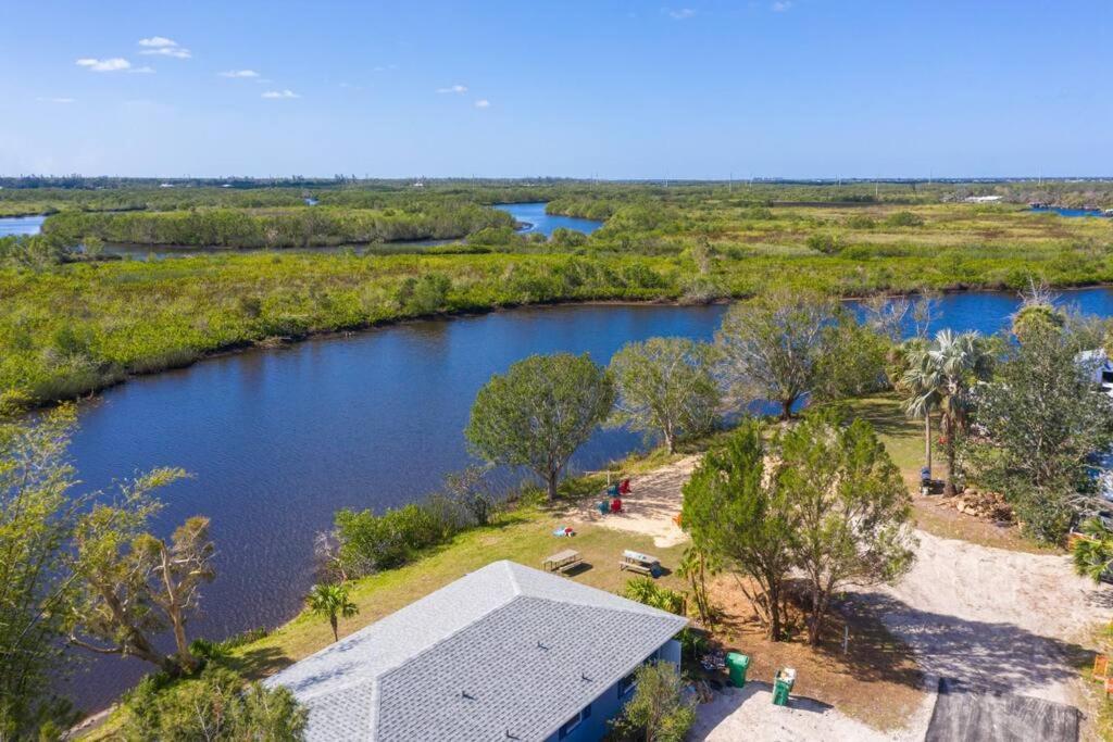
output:
[[[696,723],[696,709],[684,699],[680,669],[669,662],[643,664],[634,671],[637,690],[612,722],[620,740],[683,742]]]

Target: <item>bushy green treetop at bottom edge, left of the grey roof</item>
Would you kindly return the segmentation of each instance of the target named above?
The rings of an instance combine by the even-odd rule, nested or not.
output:
[[[230,670],[210,665],[200,676],[159,687],[145,679],[127,698],[120,735],[136,742],[304,739],[308,712],[285,687],[248,683]]]

